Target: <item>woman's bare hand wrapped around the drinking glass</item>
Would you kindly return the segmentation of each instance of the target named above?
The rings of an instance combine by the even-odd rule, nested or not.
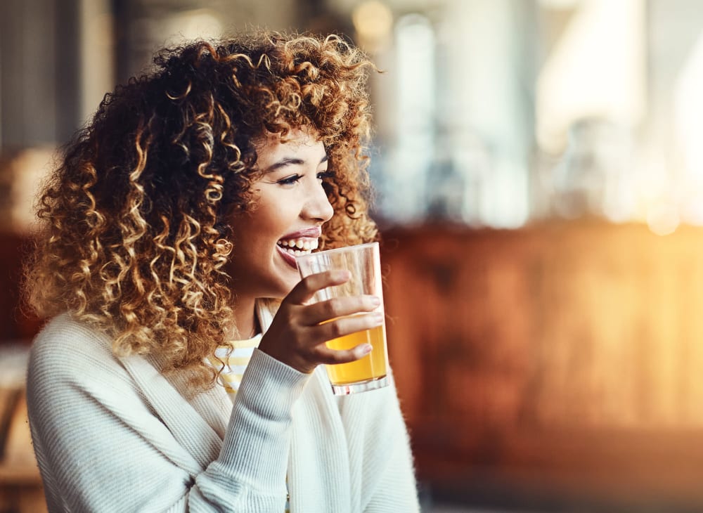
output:
[[[347,363],[371,351],[369,344],[352,349],[329,349],[325,342],[383,323],[375,296],[335,297],[308,304],[315,292],[341,285],[349,271],[325,271],[307,276],[283,299],[259,349],[300,372],[312,372],[320,363]],[[327,322],[325,322],[327,321]]]

